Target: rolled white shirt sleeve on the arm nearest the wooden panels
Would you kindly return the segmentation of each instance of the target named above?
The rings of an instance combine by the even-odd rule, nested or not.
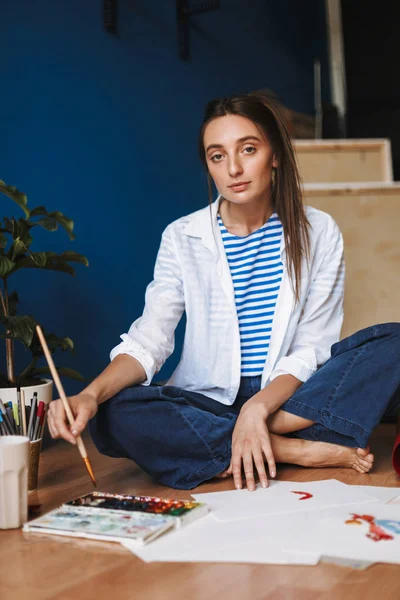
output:
[[[330,358],[331,346],[340,337],[345,265],[343,237],[332,218],[319,243],[327,249],[310,285],[289,351],[276,363],[271,381],[290,374],[305,382]]]

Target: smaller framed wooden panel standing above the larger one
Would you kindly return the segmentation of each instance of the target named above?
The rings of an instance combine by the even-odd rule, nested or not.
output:
[[[389,140],[294,141],[304,182],[392,181]]]

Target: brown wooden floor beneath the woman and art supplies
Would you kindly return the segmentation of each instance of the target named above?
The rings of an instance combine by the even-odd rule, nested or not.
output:
[[[376,467],[370,475],[350,469],[278,466],[277,479],[339,479],[348,484],[399,487],[390,464],[395,426],[381,425],[372,440]],[[101,456],[87,441],[98,489],[190,498],[189,492],[155,485],[132,462]],[[78,451],[66,442],[41,457],[38,492],[30,503],[39,514],[91,491]],[[231,481],[212,482],[202,492],[232,489]],[[399,489],[400,492],[400,489]],[[109,542],[0,531],[1,600],[376,600],[399,598],[400,567],[373,565],[364,571],[319,564],[314,567],[222,563],[144,563]]]

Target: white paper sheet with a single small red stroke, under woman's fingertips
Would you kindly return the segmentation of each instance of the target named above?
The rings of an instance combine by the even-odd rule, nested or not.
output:
[[[308,492],[311,498],[295,492]],[[343,504],[378,502],[353,486],[336,479],[322,481],[271,481],[268,488],[259,485],[254,492],[247,489],[206,494],[192,494],[195,500],[206,502],[212,516],[221,522],[251,517],[319,510]]]

